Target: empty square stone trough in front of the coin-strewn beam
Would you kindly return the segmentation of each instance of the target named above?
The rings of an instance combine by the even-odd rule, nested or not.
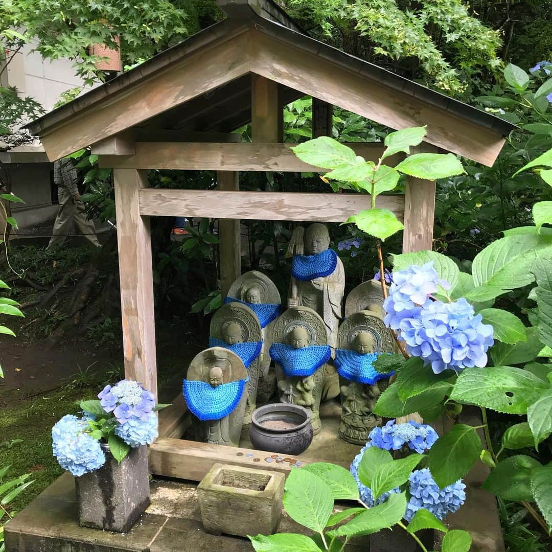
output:
[[[272,535],[282,515],[284,474],[215,464],[198,485],[207,533]]]

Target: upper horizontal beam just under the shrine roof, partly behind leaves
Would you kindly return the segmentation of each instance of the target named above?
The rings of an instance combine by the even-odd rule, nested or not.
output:
[[[346,144],[367,161],[378,161],[383,144]],[[135,155],[102,156],[100,167],[175,169],[181,171],[293,171],[327,172],[302,162],[291,147],[296,144],[221,144],[219,142],[137,142]],[[385,164],[395,166],[404,158],[397,154]]]

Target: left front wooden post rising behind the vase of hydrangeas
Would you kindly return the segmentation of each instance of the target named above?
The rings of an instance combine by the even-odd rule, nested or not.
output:
[[[125,378],[157,397],[150,219],[140,216],[145,169],[114,169]]]

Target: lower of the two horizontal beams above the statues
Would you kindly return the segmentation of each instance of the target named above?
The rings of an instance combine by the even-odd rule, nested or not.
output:
[[[403,195],[379,195],[376,207],[404,218]],[[368,194],[227,192],[222,190],[140,190],[140,214],[218,219],[344,222],[370,209]]]

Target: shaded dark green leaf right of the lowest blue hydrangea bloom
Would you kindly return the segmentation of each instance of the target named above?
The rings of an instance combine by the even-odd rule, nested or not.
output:
[[[482,487],[504,500],[532,501],[530,476],[533,469],[539,467],[538,461],[529,456],[512,456],[497,464]]]

